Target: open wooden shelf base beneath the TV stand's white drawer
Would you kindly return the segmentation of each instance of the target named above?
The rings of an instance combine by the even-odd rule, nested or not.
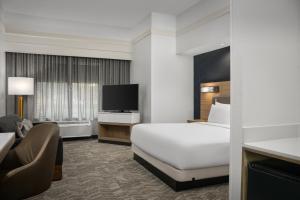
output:
[[[99,122],[99,142],[130,145],[132,127],[136,124]]]

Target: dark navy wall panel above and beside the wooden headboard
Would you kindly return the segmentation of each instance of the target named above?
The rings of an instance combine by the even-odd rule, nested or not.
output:
[[[230,47],[194,57],[194,118],[200,118],[200,84],[230,80]]]

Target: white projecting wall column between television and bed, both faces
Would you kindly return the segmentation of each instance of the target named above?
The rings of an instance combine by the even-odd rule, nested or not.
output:
[[[149,18],[137,28],[131,65],[143,122],[185,122],[193,117],[193,58],[176,55],[174,16]]]

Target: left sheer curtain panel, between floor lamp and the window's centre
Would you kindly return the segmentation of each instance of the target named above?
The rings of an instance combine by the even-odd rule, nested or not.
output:
[[[69,58],[42,56],[36,61],[34,118],[69,120]]]

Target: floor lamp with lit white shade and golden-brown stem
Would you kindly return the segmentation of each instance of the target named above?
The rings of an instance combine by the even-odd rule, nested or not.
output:
[[[34,79],[27,77],[8,77],[8,95],[18,95],[18,116],[23,119],[23,96],[34,95]]]

